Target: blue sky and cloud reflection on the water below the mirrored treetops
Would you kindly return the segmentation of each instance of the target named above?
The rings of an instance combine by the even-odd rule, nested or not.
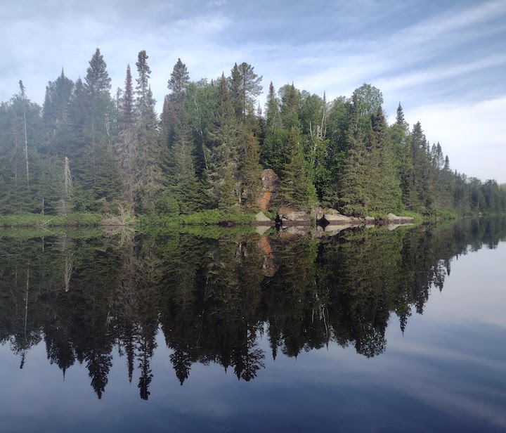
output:
[[[346,250],[337,252],[346,259]],[[351,341],[346,347],[330,341],[297,357],[280,348],[273,361],[264,322],[257,344],[265,368],[249,382],[238,380],[233,366],[224,373],[217,363],[195,362],[181,386],[174,350],[159,329],[148,401],[139,399],[138,359],[130,383],[117,348],[99,400],[86,362],[74,363],[63,380],[43,340],[27,350],[20,370],[19,354],[4,342],[1,430],[506,431],[505,263],[505,242],[453,259],[441,293],[431,288],[422,315],[412,306],[404,332],[390,313],[386,349],[372,358],[357,354]]]

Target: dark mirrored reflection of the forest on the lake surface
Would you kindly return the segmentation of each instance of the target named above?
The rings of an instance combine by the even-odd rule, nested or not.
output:
[[[126,363],[130,381],[136,372],[148,399],[159,330],[181,384],[195,363],[218,363],[249,381],[267,356],[329,344],[373,357],[385,350],[392,314],[404,331],[430,290],[443,289],[454,257],[494,248],[505,235],[501,218],[323,238],[4,231],[0,341],[20,368],[43,341],[63,375],[75,363],[86,367],[99,399],[115,350],[115,363]],[[271,353],[260,349],[261,336]]]

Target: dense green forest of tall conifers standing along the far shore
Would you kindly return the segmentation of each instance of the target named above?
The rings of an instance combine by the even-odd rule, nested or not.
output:
[[[275,206],[355,216],[506,211],[505,186],[450,169],[400,103],[389,125],[370,84],[329,102],[271,83],[263,111],[252,65],[191,82],[178,60],[159,116],[145,51],[135,65],[136,77],[127,66],[124,89],[111,93],[96,49],[84,79],[62,70],[48,82],[42,107],[20,81],[0,105],[1,214],[257,212],[266,168],[280,179]]]

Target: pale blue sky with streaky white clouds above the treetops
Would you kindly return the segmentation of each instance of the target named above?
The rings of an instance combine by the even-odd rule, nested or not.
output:
[[[112,93],[146,51],[159,112],[178,58],[194,81],[249,63],[264,93],[293,82],[332,101],[372,84],[390,122],[400,102],[452,169],[506,183],[506,0],[2,0],[0,101],[22,79],[42,104],[96,48]]]

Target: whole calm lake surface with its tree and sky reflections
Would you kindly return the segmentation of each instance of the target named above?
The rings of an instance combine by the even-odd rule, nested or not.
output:
[[[3,231],[1,432],[506,432],[506,220]]]

